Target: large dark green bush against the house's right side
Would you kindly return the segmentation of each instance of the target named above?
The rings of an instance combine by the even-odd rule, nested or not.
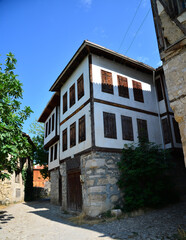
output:
[[[124,193],[124,210],[159,207],[175,201],[177,195],[170,181],[170,159],[154,143],[139,141],[125,145],[118,163],[118,185]]]

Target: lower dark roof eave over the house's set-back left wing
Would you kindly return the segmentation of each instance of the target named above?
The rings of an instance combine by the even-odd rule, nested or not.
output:
[[[48,104],[46,105],[45,109],[43,110],[41,116],[39,117],[38,122],[44,123],[47,120],[50,113],[52,112],[52,110],[59,105],[60,105],[59,92],[55,92],[51,97],[50,101],[48,102]]]

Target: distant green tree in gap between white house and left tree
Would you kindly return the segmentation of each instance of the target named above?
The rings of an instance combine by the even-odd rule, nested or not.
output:
[[[34,163],[44,166],[44,169],[40,170],[43,178],[48,177],[48,151],[44,149],[44,124],[33,122],[30,125],[29,133],[33,135],[32,141],[36,146],[34,152]]]

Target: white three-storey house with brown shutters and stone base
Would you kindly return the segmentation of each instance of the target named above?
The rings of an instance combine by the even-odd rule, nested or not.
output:
[[[51,201],[63,210],[96,216],[114,207],[117,162],[138,136],[181,149],[162,68],[84,41],[50,91],[38,121],[45,123]]]

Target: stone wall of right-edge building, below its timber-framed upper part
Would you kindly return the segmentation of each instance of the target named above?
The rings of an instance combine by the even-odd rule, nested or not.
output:
[[[170,106],[179,124],[186,165],[186,51],[182,49],[164,62],[163,69],[169,94]]]

